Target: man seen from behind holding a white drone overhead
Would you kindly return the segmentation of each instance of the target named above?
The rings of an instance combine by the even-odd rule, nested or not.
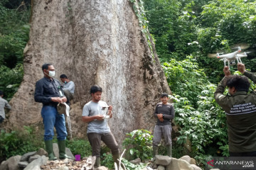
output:
[[[226,114],[230,157],[256,157],[256,91],[247,94],[249,79],[256,82],[256,74],[247,72],[240,62],[238,71],[245,77],[231,75],[229,68],[224,67],[225,77],[215,91],[215,101]],[[225,86],[229,95],[223,94]]]

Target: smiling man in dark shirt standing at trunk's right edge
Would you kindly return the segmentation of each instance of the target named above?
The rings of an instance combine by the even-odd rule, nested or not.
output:
[[[158,145],[161,141],[161,136],[164,135],[164,142],[166,144],[167,154],[169,157],[171,153],[171,120],[174,119],[174,106],[168,103],[168,94],[161,94],[161,102],[156,104],[154,117],[157,118],[156,126],[154,128],[153,137],[153,159],[158,152]]]

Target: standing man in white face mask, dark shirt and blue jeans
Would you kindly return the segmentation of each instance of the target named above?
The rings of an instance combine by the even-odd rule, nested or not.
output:
[[[36,82],[34,98],[36,102],[43,103],[41,115],[43,117],[45,130],[44,140],[46,143],[46,151],[48,152],[49,160],[57,159],[53,153],[55,127],[60,159],[71,158],[65,154],[65,139],[68,135],[65,128],[65,116],[64,114],[59,114],[57,111],[58,103],[66,102],[67,98],[63,95],[60,81],[53,79],[55,76],[53,64],[43,64],[42,71],[44,77]]]

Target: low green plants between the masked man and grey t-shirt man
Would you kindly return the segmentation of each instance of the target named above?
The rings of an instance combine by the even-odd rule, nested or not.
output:
[[[87,140],[67,140],[66,145],[66,147],[68,147],[74,155],[80,154],[81,157],[88,157],[92,155],[92,148],[90,146],[90,142],[88,142]]]

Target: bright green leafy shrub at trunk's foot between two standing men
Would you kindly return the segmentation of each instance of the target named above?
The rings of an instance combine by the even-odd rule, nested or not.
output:
[[[152,157],[152,138],[148,130],[134,130],[126,134],[122,145],[127,149],[128,157],[140,158],[142,161]]]

